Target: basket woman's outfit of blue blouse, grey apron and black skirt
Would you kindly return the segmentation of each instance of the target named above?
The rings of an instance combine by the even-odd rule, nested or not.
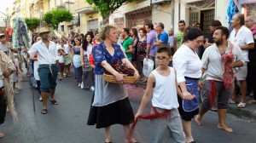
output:
[[[127,125],[132,123],[134,119],[125,86],[119,83],[108,83],[102,77],[104,68],[101,63],[103,60],[112,65],[114,60],[121,62],[125,58],[119,45],[113,44],[112,46],[114,49],[113,56],[108,53],[104,43],[100,43],[93,49],[96,85],[87,124],[96,124],[97,129],[106,128],[112,124]]]

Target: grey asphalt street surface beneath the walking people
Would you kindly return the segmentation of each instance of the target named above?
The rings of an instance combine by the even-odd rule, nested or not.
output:
[[[131,106],[137,112],[143,95],[142,87],[127,86],[130,94]],[[15,96],[15,105],[19,114],[19,122],[13,123],[12,118],[6,117],[6,122],[0,126],[6,136],[0,139],[1,143],[102,143],[105,140],[104,129],[87,126],[87,117],[90,109],[91,91],[79,89],[73,77],[58,81],[56,100],[59,105],[53,106],[49,102],[47,115],[40,113],[42,103],[38,100],[39,94],[35,91],[36,112],[32,108],[32,91],[28,82],[23,82],[23,90]],[[148,106],[148,110],[150,106]],[[148,127],[146,120],[137,124],[134,136],[140,143],[148,142]],[[238,119],[228,115],[227,123],[234,129],[234,133],[226,133],[217,129],[218,116],[216,112],[208,112],[201,126],[192,122],[193,134],[197,143],[253,143],[256,140],[256,123]],[[125,136],[120,125],[111,128],[112,142],[123,143]],[[155,133],[157,134],[157,133]],[[166,136],[169,133],[166,133]],[[172,142],[166,140],[163,143]]]

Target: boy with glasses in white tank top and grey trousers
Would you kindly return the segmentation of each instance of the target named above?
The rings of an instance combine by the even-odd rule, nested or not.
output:
[[[184,97],[180,89],[178,89],[176,72],[172,67],[168,66],[172,60],[170,48],[162,46],[157,49],[155,59],[158,67],[148,76],[147,89],[143,95],[143,100],[135,119],[143,118],[143,110],[153,95],[152,114],[148,117],[150,118],[148,142],[162,142],[163,135],[169,129],[169,133],[172,133],[172,135],[170,134],[170,138],[173,136],[176,142],[185,143],[186,139],[183,134],[183,126],[179,112],[177,111],[177,94],[184,100],[192,100],[194,96]]]

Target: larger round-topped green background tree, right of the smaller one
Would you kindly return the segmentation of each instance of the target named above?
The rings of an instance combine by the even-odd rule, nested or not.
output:
[[[54,30],[57,30],[61,22],[73,20],[73,15],[67,9],[53,9],[44,14],[43,20],[46,25],[52,26]]]

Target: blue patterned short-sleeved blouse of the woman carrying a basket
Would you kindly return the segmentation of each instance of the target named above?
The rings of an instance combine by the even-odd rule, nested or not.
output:
[[[108,50],[106,49],[106,46],[104,43],[98,44],[95,48],[93,48],[93,58],[95,60],[95,70],[94,73],[97,75],[103,74],[104,68],[101,65],[103,60],[107,60],[109,65],[113,64],[113,60],[119,61],[121,63],[121,60],[125,58],[125,54],[120,49],[120,46],[118,44],[112,44],[114,53],[113,56],[108,53]]]

